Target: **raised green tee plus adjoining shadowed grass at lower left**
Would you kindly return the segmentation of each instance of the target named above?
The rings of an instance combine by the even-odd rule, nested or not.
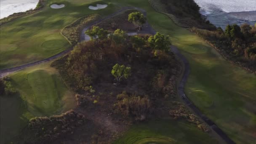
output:
[[[48,64],[16,72],[10,77],[13,86],[25,96],[27,108],[20,106],[19,96],[0,98],[3,141],[18,134],[32,117],[59,114],[75,106],[74,94],[64,85],[58,71]]]

